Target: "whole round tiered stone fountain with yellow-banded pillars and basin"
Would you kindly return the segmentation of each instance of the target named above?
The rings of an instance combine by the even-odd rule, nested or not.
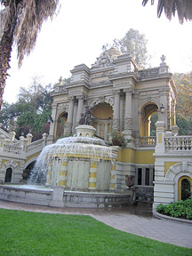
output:
[[[109,147],[104,140],[94,138],[94,133],[92,125],[82,124],[76,127],[76,137],[46,146],[28,185],[0,186],[0,199],[57,207],[129,204],[127,192],[116,191],[118,147]]]

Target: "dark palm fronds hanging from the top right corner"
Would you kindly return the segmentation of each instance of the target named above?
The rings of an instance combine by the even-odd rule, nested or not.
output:
[[[155,0],[151,0],[151,4],[154,4]],[[145,6],[148,0],[143,0],[142,4]],[[192,1],[191,0],[158,0],[157,5],[157,17],[160,18],[164,11],[166,17],[172,20],[172,15],[178,13],[180,23],[185,20],[192,20]]]

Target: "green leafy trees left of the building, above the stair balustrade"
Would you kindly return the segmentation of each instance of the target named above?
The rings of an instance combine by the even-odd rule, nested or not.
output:
[[[38,77],[35,77],[28,89],[20,87],[18,100],[14,104],[4,102],[0,122],[9,132],[12,129],[19,138],[21,133],[27,135],[30,130],[33,140],[41,138],[42,133],[49,132],[47,119],[52,113],[52,98],[50,93],[52,86],[45,88],[41,85]]]

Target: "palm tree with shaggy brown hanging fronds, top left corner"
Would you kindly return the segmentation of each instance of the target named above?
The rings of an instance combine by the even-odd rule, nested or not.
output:
[[[12,44],[17,46],[19,66],[25,55],[36,44],[36,37],[44,20],[53,17],[59,0],[0,0],[3,10],[0,12],[0,108]]]

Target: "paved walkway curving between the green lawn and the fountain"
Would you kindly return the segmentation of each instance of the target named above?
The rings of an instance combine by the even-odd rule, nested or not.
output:
[[[192,248],[192,225],[171,220],[156,220],[132,214],[127,209],[54,208],[32,204],[10,203],[0,200],[0,208],[29,212],[90,215],[110,227],[145,236],[160,242]]]

